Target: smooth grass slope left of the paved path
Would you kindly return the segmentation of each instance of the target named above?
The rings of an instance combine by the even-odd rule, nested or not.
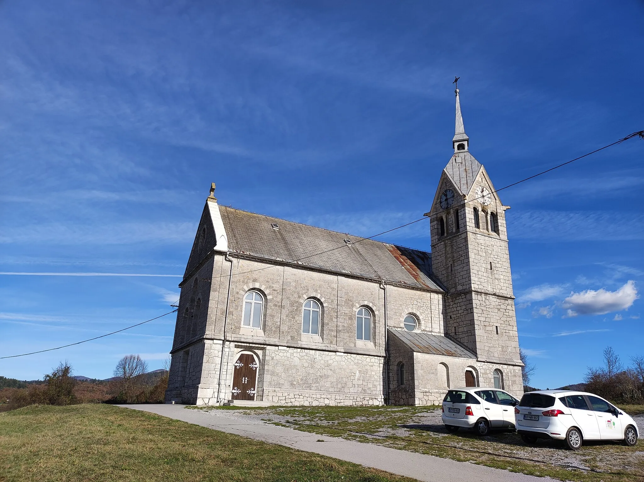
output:
[[[337,459],[111,405],[0,414],[0,481],[411,482]]]

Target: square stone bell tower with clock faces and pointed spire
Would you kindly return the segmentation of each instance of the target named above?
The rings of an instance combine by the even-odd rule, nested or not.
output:
[[[458,84],[454,154],[427,213],[431,265],[447,291],[445,333],[478,361],[520,363],[506,209],[486,169],[469,152]]]

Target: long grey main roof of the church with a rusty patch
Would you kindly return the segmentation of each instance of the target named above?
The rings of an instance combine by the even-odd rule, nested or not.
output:
[[[431,254],[425,251],[363,240],[234,207],[219,209],[231,253],[442,291],[431,278]]]

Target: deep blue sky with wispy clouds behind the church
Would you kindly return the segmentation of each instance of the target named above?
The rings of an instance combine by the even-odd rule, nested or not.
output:
[[[500,188],[644,129],[638,1],[0,3],[0,351],[169,311],[210,182],[222,204],[370,236],[417,219],[451,156]],[[644,141],[502,191],[533,385],[644,354]],[[424,222],[383,240],[430,249]],[[589,291],[590,290],[590,291]],[[161,367],[175,317],[0,360],[41,378]]]

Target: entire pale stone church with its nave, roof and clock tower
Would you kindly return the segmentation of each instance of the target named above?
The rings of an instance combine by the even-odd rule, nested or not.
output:
[[[220,206],[180,284],[166,400],[427,405],[450,387],[523,392],[504,206],[454,153],[425,215],[431,253]]]

